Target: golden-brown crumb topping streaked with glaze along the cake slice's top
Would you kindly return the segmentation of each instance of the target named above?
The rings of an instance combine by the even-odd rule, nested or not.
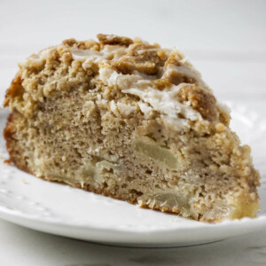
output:
[[[202,81],[200,73],[176,49],[163,49],[157,43],[149,44],[139,39],[99,34],[98,42],[68,39],[33,54],[19,66],[28,70],[41,69],[51,60],[71,65],[76,69],[74,72],[90,69],[98,74],[99,82],[113,91],[135,95],[153,108],[147,95],[160,95],[162,102],[158,111],[168,118],[174,109],[179,110],[179,120],[191,120],[192,116],[187,113],[193,112],[198,113],[198,120],[216,121],[219,117],[212,91]],[[175,96],[171,94],[173,91]]]

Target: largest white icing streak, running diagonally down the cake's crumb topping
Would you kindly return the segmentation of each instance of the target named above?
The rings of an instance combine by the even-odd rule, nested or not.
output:
[[[122,92],[141,98],[149,105],[139,105],[143,113],[150,112],[151,110],[148,108],[153,106],[154,110],[162,114],[164,121],[174,125],[176,130],[187,126],[187,120],[202,120],[201,114],[194,110],[189,103],[185,106],[176,98],[176,93],[184,85],[187,86],[187,83],[173,85],[170,90],[156,90],[153,89],[149,80],[145,80],[143,74],[138,74],[137,72],[135,74],[118,74],[112,68],[101,68],[99,70],[99,78],[108,86],[118,86]],[[179,118],[178,113],[182,114],[185,119]]]

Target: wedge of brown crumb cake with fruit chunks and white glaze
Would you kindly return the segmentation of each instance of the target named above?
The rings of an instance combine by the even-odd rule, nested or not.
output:
[[[200,221],[256,215],[260,175],[250,147],[180,51],[98,35],[19,66],[4,101],[18,168]]]

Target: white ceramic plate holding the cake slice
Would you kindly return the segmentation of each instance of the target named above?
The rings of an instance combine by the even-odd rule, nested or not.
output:
[[[142,209],[127,202],[83,192],[0,164],[0,217],[38,231],[119,246],[187,246],[266,228],[266,122],[245,107],[232,107],[231,126],[253,148],[262,174],[262,210],[255,219],[209,224]],[[0,111],[3,132],[7,111]],[[2,159],[8,158],[1,134]]]

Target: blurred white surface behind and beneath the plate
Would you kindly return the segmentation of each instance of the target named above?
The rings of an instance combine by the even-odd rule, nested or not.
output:
[[[178,46],[215,95],[266,116],[266,1],[0,0],[0,101],[17,62],[99,32]],[[0,265],[266,265],[266,230],[208,245],[129,248],[32,231],[0,220]]]

